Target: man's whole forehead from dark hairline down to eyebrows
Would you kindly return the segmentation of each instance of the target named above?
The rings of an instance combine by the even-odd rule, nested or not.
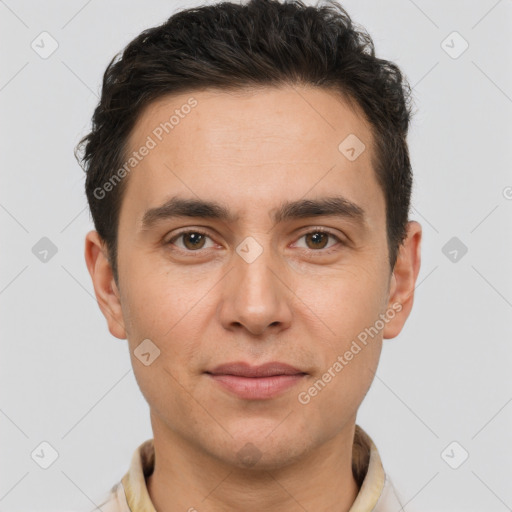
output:
[[[370,210],[384,207],[371,129],[357,108],[325,89],[165,96],[140,114],[126,157],[143,147],[150,149],[129,173],[122,205],[122,216],[128,212],[136,223],[174,195],[221,199],[239,218],[270,210],[283,197],[326,192]],[[353,149],[362,151],[355,159]]]

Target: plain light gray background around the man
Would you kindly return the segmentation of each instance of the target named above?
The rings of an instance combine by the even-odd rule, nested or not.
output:
[[[413,312],[384,342],[358,423],[405,510],[512,510],[512,0],[342,3],[414,86],[424,230]],[[92,510],[152,435],[126,341],[93,296],[72,151],[114,53],[197,4],[0,0],[2,511]],[[31,47],[51,49],[43,31],[58,43],[46,59]],[[43,441],[59,454],[46,470],[31,458]]]

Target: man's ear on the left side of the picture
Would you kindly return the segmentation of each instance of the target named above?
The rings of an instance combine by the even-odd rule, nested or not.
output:
[[[97,231],[89,231],[85,237],[85,261],[108,330],[112,336],[126,339],[119,290],[108,261],[107,248]]]

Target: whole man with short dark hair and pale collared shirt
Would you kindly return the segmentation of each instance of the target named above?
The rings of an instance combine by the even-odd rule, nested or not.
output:
[[[397,511],[356,425],[413,304],[409,89],[337,4],[187,9],[114,58],[85,257],[153,439],[104,511]]]

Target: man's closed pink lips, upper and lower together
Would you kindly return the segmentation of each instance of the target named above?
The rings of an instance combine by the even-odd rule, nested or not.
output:
[[[286,363],[259,366],[237,362],[217,366],[206,374],[227,391],[246,400],[265,400],[284,393],[307,375]]]

